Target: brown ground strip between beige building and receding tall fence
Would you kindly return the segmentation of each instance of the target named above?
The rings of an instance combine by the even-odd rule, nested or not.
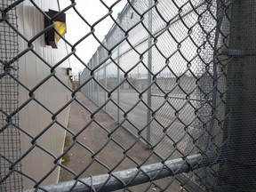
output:
[[[112,169],[116,172],[137,167],[139,164],[153,164],[161,161],[142,142],[136,142],[136,138],[130,132],[127,132],[124,127],[117,128],[116,121],[104,111],[100,110],[93,116],[93,112],[98,107],[91,100],[88,100],[83,93],[77,92],[77,100],[84,107],[76,101],[71,104],[68,128],[76,135],[76,140],[72,140],[74,135],[67,133],[67,137],[72,140],[70,145],[73,145],[68,151],[69,162],[67,167],[76,175],[79,174],[80,178],[107,173]],[[127,153],[124,153],[124,150],[127,150]],[[148,156],[150,157],[148,158]],[[64,169],[60,170],[60,181],[73,180],[74,177],[74,174]],[[171,185],[169,186],[169,184]],[[180,182],[173,177],[129,189],[135,192],[183,191],[180,190]]]

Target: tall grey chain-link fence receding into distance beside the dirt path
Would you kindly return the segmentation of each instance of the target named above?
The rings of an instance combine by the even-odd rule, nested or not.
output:
[[[216,94],[227,89],[219,54],[227,48],[228,26],[222,23],[228,22],[229,4],[132,1],[81,75],[81,84],[92,76],[100,84],[91,81],[82,92],[164,160],[196,153],[216,158],[222,125],[215,116],[223,121],[225,110]],[[205,189],[216,181],[213,167],[183,176]]]

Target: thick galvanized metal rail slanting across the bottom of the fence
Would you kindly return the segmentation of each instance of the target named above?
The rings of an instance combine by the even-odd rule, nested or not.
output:
[[[126,187],[132,187],[151,180],[159,180],[182,172],[189,172],[193,167],[200,168],[202,160],[203,157],[201,155],[192,155],[187,156],[185,159],[177,158],[169,160],[164,162],[164,164],[157,163],[144,165],[140,167],[141,171],[137,168],[132,168],[124,171],[112,172],[111,175],[113,176],[111,177],[109,174],[101,174],[92,178],[79,179],[81,182],[79,181],[77,183],[75,183],[75,180],[72,180],[52,184],[42,188],[44,188],[45,191],[51,192],[68,192],[70,191],[70,188],[73,188],[76,184],[76,187],[72,189],[73,192],[89,192],[94,191],[93,189],[95,189],[95,191],[99,191],[99,189],[104,185],[100,191],[114,191],[124,188],[124,183],[129,183]],[[107,180],[108,182],[106,182]],[[86,185],[84,185],[84,183],[86,183]],[[25,190],[24,192],[32,191],[35,191],[35,188]],[[37,191],[42,192],[43,190],[38,189]]]

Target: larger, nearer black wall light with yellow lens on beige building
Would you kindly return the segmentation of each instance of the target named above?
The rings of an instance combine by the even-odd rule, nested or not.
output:
[[[49,9],[48,12],[45,12],[50,18],[56,15],[58,12]],[[61,36],[64,36],[67,33],[67,26],[66,26],[66,14],[61,13],[55,20],[55,30],[57,30]],[[44,28],[47,28],[51,25],[50,20],[44,17]],[[44,34],[45,43],[47,45],[51,45],[52,48],[57,48],[57,42],[60,40],[60,36],[55,32],[54,28],[47,31]]]

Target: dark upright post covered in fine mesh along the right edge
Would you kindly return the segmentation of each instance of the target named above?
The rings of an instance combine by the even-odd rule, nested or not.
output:
[[[228,84],[224,124],[225,145],[220,156],[217,190],[254,191],[256,188],[256,4],[238,0],[232,5],[228,55]]]

